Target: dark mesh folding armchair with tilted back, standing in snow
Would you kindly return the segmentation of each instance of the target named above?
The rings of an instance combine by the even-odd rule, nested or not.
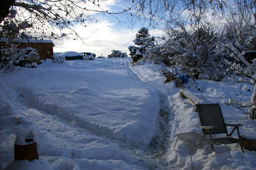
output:
[[[219,104],[197,104],[196,110],[199,115],[200,123],[203,130],[203,136],[206,135],[210,136],[210,140],[213,141],[215,144],[229,144],[229,143],[240,143],[241,150],[243,151],[242,142],[243,140],[240,139],[239,134],[239,126],[242,124],[226,124],[223,118],[223,114],[221,111],[221,107]],[[233,130],[230,134],[227,132],[226,126],[233,126]],[[238,137],[232,138],[231,135],[233,134],[234,130],[237,129]],[[226,134],[226,137],[222,138],[212,138],[212,134]],[[211,144],[213,150],[213,144]],[[214,150],[213,150],[214,151]]]

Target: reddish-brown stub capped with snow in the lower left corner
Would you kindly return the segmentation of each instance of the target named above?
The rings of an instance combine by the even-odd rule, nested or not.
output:
[[[19,128],[14,143],[14,159],[29,161],[39,159],[37,152],[37,135],[34,130]]]

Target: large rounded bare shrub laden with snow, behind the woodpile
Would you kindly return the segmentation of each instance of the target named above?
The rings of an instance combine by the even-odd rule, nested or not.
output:
[[[211,80],[222,80],[227,66],[215,49],[224,37],[210,26],[195,29],[179,24],[179,27],[166,31],[168,38],[161,46],[162,55],[168,55],[171,65],[183,68],[194,78],[203,73]]]

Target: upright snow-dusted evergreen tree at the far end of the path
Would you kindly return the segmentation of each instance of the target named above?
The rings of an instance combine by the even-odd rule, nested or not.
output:
[[[150,34],[148,34],[148,29],[145,27],[142,27],[138,34],[136,34],[134,42],[136,46],[129,46],[128,49],[130,51],[130,56],[134,62],[137,62],[143,56],[147,53],[146,48],[153,47],[154,46],[155,37],[150,37]]]

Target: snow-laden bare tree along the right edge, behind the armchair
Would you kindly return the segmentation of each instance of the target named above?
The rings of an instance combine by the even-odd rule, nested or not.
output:
[[[247,101],[230,98],[228,105],[235,106],[248,114],[251,119],[256,119],[256,59],[251,61],[245,59],[246,50],[253,49],[256,37],[256,1],[237,1],[235,15],[240,22],[230,20],[237,28],[232,42],[219,42],[216,52],[229,55],[227,60],[231,77],[239,82],[248,82],[254,85],[254,91]],[[233,10],[234,11],[234,10]],[[234,13],[232,14],[234,15]],[[229,22],[227,20],[227,22]],[[241,91],[241,95],[242,91]]]

